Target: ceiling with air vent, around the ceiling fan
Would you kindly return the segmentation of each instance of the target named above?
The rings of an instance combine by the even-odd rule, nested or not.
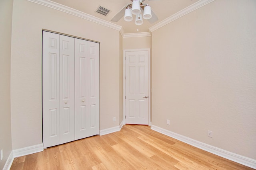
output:
[[[75,10],[84,12],[86,14],[95,16],[102,20],[109,21],[116,25],[122,26],[124,33],[142,33],[148,32],[148,28],[156,25],[160,21],[172,16],[176,12],[183,10],[184,8],[198,2],[199,0],[145,0],[143,3],[149,4],[151,9],[154,11],[158,17],[158,21],[155,23],[150,23],[143,19],[144,23],[142,25],[135,25],[133,19],[130,22],[124,21],[122,17],[119,21],[113,22],[111,19],[127,4],[131,4],[131,0],[52,0],[58,4],[68,6]],[[99,6],[102,6],[110,12],[107,16],[99,14],[96,12]],[[135,17],[134,17],[135,18]],[[137,31],[136,29],[139,29]]]

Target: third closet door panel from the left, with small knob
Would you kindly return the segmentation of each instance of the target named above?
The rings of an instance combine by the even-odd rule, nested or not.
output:
[[[88,41],[75,39],[75,139],[88,137]]]

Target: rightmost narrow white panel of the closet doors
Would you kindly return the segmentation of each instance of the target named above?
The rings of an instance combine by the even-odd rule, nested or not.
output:
[[[88,128],[89,136],[100,131],[99,44],[88,42]]]

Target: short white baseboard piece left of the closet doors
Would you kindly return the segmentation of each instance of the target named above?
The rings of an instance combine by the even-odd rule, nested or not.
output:
[[[15,149],[12,151],[13,151],[14,158],[16,158],[19,156],[24,156],[24,155],[28,155],[28,154],[32,154],[32,153],[36,153],[36,152],[42,152],[43,150],[44,150],[44,146],[41,143],[38,145],[33,145],[30,147],[25,147],[25,148],[21,148],[21,149]]]

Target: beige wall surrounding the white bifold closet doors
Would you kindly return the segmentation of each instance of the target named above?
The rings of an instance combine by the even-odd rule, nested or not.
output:
[[[100,129],[119,125],[119,31],[14,0],[11,59],[12,147],[42,143],[42,29],[100,42]]]

